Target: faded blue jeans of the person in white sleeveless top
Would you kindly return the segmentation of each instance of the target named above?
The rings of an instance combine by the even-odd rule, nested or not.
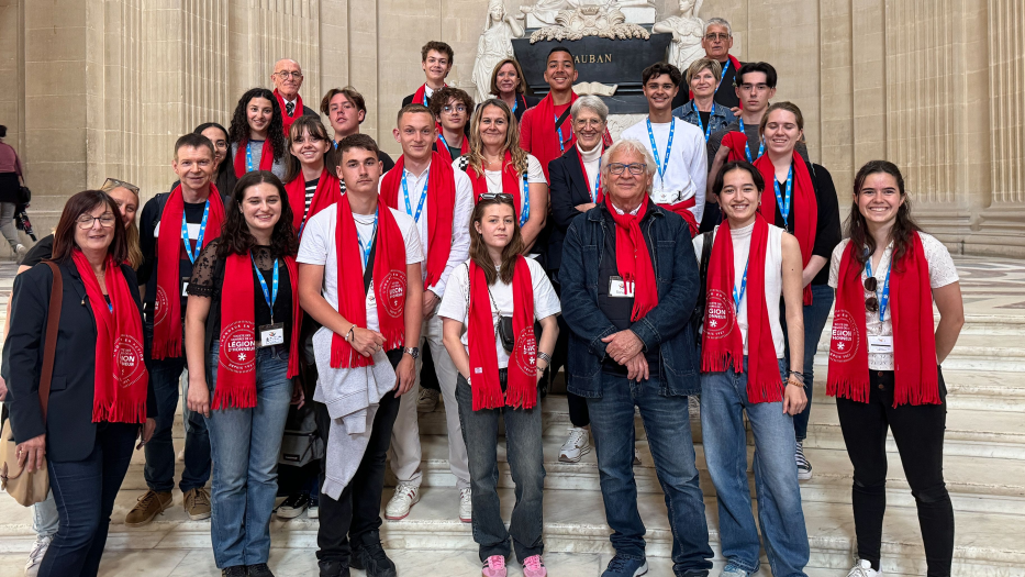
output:
[[[788,365],[779,360],[782,376]],[[747,400],[747,357],[744,373],[701,375],[701,432],[704,457],[718,496],[718,533],[723,556],[737,567],[758,570],[758,530],[747,484],[747,434],[744,412],[755,433],[755,492],[758,521],[765,536],[772,575],[804,577],[810,555],[801,488],[793,466],[793,419],[782,402]]]

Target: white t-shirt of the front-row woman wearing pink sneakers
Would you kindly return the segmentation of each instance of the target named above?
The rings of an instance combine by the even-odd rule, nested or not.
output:
[[[534,318],[537,320],[561,312],[559,298],[552,288],[552,281],[545,269],[531,258],[526,259],[531,269],[531,281],[534,286]],[[453,319],[463,323],[463,346],[467,346],[467,314],[470,309],[470,262],[456,267],[452,276],[448,277],[448,287],[445,289],[445,296],[442,298],[442,304],[438,307],[437,315],[446,319]],[[491,291],[491,323],[492,331],[495,331],[494,348],[499,355],[499,368],[509,366],[509,353],[502,347],[495,328],[499,323],[499,317],[511,317],[513,313],[513,293],[512,285],[502,282],[498,279],[490,287]],[[497,307],[497,309],[495,309]],[[541,335],[537,335],[538,339]],[[467,354],[469,347],[467,346]]]

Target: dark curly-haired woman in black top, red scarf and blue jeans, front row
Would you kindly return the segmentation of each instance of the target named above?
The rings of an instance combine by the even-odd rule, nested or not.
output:
[[[285,186],[266,170],[238,180],[226,212],[188,288],[188,407],[210,432],[218,567],[266,577],[278,452],[293,390],[301,398],[291,381],[302,314],[299,241]]]

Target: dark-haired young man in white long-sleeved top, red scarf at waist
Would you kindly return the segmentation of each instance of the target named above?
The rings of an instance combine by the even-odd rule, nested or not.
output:
[[[672,115],[672,98],[682,79],[671,64],[645,68],[642,80],[648,118],[623,131],[620,140],[637,141],[655,157],[651,201],[683,217],[693,236],[704,212],[709,159],[701,129]]]

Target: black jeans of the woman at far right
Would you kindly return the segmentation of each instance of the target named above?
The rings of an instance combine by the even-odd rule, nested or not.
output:
[[[867,403],[836,399],[847,455],[854,465],[855,532],[858,557],[879,569],[882,518],[887,510],[887,429],[901,454],[901,464],[918,509],[931,577],[947,577],[954,558],[954,507],[943,480],[943,436],[947,406],[893,407],[893,371],[869,371]],[[946,390],[939,374],[940,398]]]

